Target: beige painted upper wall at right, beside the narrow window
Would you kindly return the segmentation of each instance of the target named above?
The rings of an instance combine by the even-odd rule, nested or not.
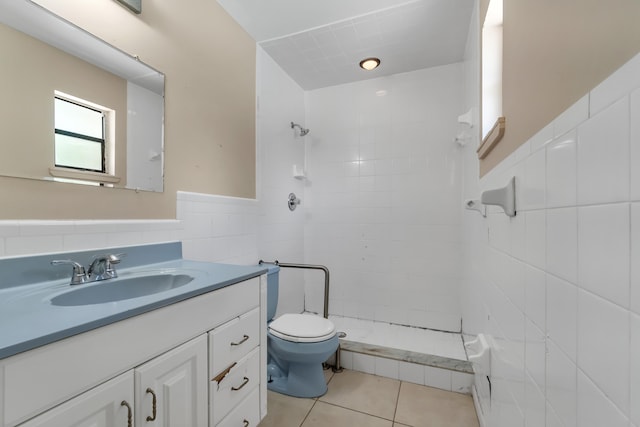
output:
[[[636,0],[504,0],[506,133],[481,175],[638,53],[639,23]]]

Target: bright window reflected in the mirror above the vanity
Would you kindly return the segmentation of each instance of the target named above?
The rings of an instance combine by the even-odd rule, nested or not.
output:
[[[56,95],[55,166],[106,173],[106,119],[102,109]]]

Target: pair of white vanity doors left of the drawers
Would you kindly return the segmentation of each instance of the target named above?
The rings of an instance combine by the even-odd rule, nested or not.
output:
[[[207,424],[206,335],[109,380],[21,427],[131,427],[151,422],[153,426]]]

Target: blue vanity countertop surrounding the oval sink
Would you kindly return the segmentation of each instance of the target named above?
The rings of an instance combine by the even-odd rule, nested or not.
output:
[[[126,249],[124,248],[125,251]],[[47,259],[49,258],[52,257],[47,256]],[[2,261],[7,265],[8,260]],[[66,277],[36,284],[0,286],[0,359],[166,307],[266,272],[267,269],[263,266],[215,264],[180,258],[121,268],[118,269],[117,279],[83,285],[71,286],[69,277]],[[67,275],[69,273],[70,269],[66,271]],[[111,280],[171,273],[189,274],[194,279],[175,289],[117,302],[71,307],[51,303],[53,297],[72,292],[79,287],[109,286]]]

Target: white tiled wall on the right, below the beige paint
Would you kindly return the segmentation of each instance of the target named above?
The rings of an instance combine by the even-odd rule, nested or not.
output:
[[[640,55],[477,183],[465,180],[478,192],[511,176],[520,186],[515,218],[464,217],[463,325],[496,343],[482,405],[492,427],[640,422],[639,66]]]

